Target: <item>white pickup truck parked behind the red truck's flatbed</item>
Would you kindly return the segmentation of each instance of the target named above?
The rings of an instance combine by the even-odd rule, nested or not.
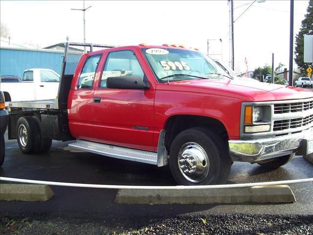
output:
[[[23,71],[22,82],[1,82],[6,101],[54,99],[58,94],[60,75],[48,69]]]

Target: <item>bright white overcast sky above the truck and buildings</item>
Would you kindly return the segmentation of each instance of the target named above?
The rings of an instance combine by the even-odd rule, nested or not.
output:
[[[234,0],[235,71],[253,71],[265,64],[289,67],[290,0]],[[0,0],[0,21],[12,40],[47,47],[83,42],[83,0]],[[294,36],[309,0],[294,1]],[[230,61],[227,0],[86,0],[86,43],[162,45],[199,48],[213,59]],[[247,9],[248,8],[248,9]],[[238,18],[238,19],[237,19]],[[221,39],[221,40],[220,40]],[[222,42],[221,42],[222,41]],[[295,39],[294,39],[295,41]]]

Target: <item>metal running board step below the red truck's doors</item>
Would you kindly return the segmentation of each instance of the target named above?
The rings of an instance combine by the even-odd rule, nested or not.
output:
[[[159,165],[157,164],[157,153],[155,152],[83,140],[77,140],[76,142],[70,143],[68,144],[68,147],[112,158]]]

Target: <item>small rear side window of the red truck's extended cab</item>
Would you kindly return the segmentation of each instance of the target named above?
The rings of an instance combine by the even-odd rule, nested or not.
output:
[[[80,73],[78,80],[78,89],[91,89],[94,75],[97,71],[101,55],[92,55],[85,61],[85,65]]]

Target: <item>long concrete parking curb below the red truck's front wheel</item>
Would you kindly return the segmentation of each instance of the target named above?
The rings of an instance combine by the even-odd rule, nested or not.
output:
[[[119,189],[121,204],[293,203],[288,185],[214,189]]]

